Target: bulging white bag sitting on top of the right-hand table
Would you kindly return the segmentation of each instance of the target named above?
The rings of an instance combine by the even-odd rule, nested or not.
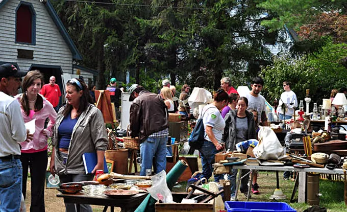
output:
[[[285,154],[276,133],[271,128],[260,127],[258,138],[259,144],[253,150],[257,159],[277,160]]]

